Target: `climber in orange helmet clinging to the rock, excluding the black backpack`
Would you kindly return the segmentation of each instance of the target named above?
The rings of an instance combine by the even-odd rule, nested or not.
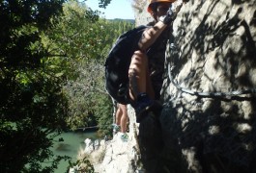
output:
[[[165,48],[171,30],[174,12],[171,4],[176,0],[149,0],[148,12],[154,21],[149,23],[138,42],[128,70],[131,105],[139,123],[149,111],[160,111],[160,89],[163,83]]]

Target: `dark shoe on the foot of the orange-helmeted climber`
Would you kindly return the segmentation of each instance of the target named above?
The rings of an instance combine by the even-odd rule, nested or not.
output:
[[[150,99],[147,94],[141,95],[138,97],[134,108],[136,113],[136,122],[140,123],[150,111],[159,114],[158,111],[161,111],[161,109],[162,105],[158,101]]]

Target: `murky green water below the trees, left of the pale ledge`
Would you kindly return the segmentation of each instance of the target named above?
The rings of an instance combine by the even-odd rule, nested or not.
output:
[[[58,141],[59,138],[63,138],[64,141]],[[62,133],[60,136],[56,137],[56,142],[53,145],[52,151],[54,155],[59,156],[69,156],[72,158],[72,161],[76,161],[76,157],[80,148],[84,149],[86,138],[97,139],[96,132],[68,132]],[[67,167],[69,166],[68,161],[61,161],[58,169],[55,173],[65,173]]]

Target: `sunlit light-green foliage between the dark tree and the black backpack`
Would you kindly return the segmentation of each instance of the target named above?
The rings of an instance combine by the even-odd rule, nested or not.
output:
[[[134,25],[97,18],[99,14],[83,3],[66,3],[64,14],[53,19],[56,24],[45,33],[44,46],[69,62],[64,86],[69,100],[67,123],[72,129],[99,124],[104,135],[103,129],[112,123],[112,102],[104,89],[103,64],[114,40]]]

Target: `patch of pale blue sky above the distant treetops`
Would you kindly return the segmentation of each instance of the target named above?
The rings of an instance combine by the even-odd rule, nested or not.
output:
[[[99,0],[86,0],[85,4],[92,10],[104,12],[106,19],[122,18],[134,19],[134,12],[131,7],[130,0],[111,0],[106,9],[99,8]]]

